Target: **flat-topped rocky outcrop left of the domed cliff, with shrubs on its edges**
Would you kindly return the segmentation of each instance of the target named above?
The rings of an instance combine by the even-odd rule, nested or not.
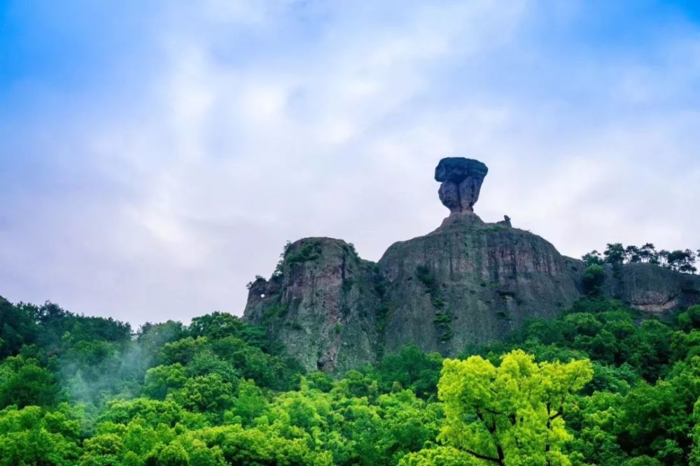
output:
[[[269,280],[249,286],[244,319],[265,326],[308,370],[358,367],[376,354],[375,273],[342,240],[299,240]]]

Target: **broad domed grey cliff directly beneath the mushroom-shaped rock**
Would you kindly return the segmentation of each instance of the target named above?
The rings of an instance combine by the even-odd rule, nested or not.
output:
[[[395,243],[379,270],[388,289],[387,351],[413,343],[456,354],[528,317],[556,316],[580,296],[549,242],[473,214],[452,214],[433,233]]]

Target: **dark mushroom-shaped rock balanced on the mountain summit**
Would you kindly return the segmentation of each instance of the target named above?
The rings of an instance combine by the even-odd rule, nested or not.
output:
[[[478,160],[463,157],[442,159],[435,168],[435,181],[439,181],[437,194],[451,213],[473,213],[479,200],[479,191],[489,168]]]

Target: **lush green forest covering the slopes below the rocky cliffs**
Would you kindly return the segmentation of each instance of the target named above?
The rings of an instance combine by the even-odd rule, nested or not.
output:
[[[305,373],[214,312],[0,300],[0,465],[700,465],[700,306],[591,295],[454,359]]]

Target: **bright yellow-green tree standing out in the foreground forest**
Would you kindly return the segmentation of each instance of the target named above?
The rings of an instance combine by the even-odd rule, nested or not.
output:
[[[498,367],[480,356],[446,359],[438,384],[446,416],[440,439],[483,463],[568,465],[568,398],[593,377],[590,361],[535,363],[515,350]]]

